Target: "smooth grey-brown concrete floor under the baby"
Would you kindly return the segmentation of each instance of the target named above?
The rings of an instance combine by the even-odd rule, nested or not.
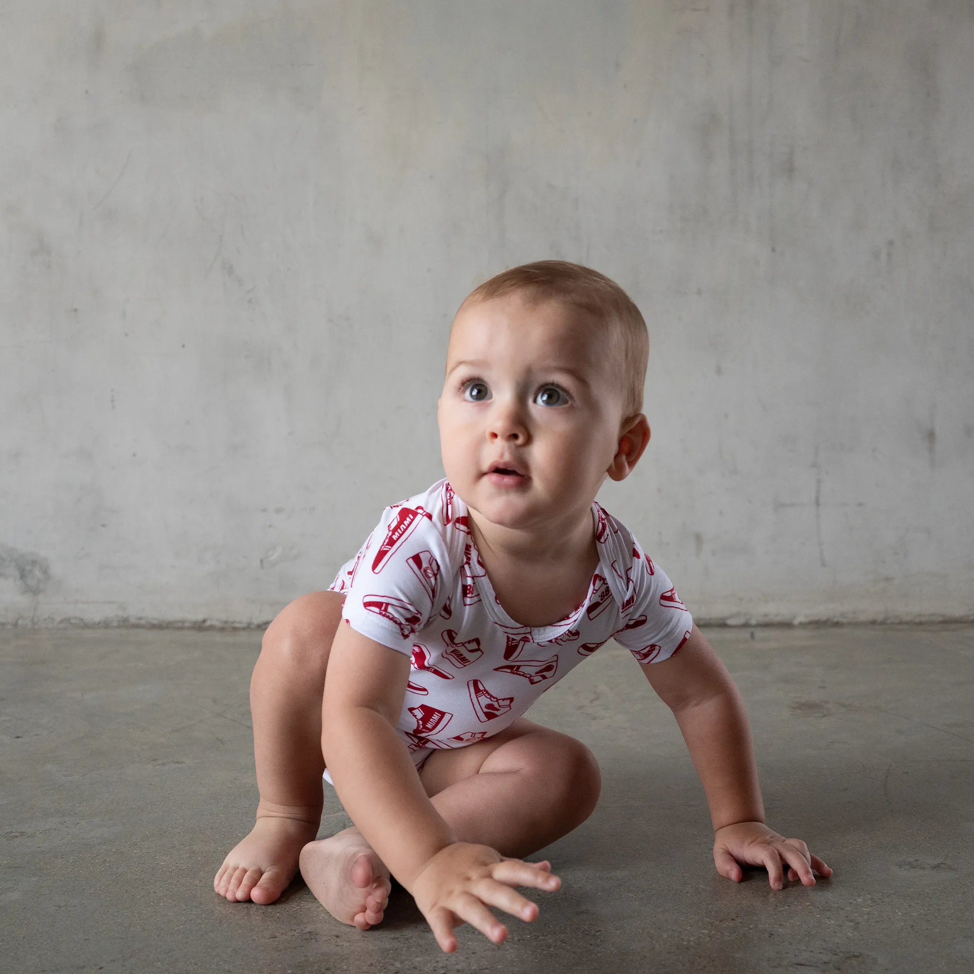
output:
[[[734,885],[668,711],[607,646],[532,716],[581,737],[602,802],[506,945],[439,953],[409,897],[360,933],[296,882],[212,892],[256,790],[256,632],[0,630],[0,969],[974,971],[974,627],[715,629],[749,704],[768,821],[836,870]],[[346,822],[329,792],[322,834]]]

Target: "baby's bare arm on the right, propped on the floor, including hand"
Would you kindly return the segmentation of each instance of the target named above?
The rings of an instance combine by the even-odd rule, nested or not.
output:
[[[675,656],[644,663],[653,689],[673,711],[700,775],[714,826],[714,864],[729,880],[742,878],[739,863],[764,866],[774,889],[790,880],[814,885],[812,870],[832,870],[800,839],[784,839],[765,825],[751,731],[740,693],[700,631]]]

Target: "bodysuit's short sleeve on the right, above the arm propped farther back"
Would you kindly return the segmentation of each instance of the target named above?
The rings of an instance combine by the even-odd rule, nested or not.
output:
[[[659,663],[690,639],[693,617],[666,573],[638,542],[632,543],[631,604],[623,604],[624,625],[614,638],[641,663]]]

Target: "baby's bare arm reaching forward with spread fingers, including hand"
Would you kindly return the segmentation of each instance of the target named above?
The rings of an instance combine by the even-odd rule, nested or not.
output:
[[[395,732],[409,657],[340,624],[328,659],[321,745],[338,797],[365,840],[413,894],[439,946],[456,949],[465,920],[501,943],[506,927],[486,904],[532,920],[538,907],[513,886],[559,880],[486,845],[460,843],[424,791]]]

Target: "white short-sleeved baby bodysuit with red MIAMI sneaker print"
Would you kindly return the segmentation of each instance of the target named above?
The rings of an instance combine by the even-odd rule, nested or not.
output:
[[[411,657],[396,731],[417,767],[433,749],[503,731],[609,639],[640,662],[661,662],[687,641],[693,619],[659,566],[598,504],[592,518],[599,564],[588,594],[571,616],[539,628],[501,607],[467,506],[446,480],[387,507],[342,567],[331,585],[345,595],[342,617]]]

